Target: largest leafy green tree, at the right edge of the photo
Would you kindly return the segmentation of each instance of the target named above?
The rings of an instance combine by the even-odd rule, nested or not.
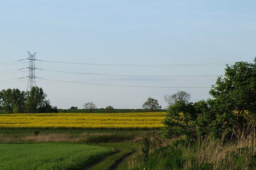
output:
[[[256,114],[256,57],[254,63],[236,62],[226,66],[225,76],[212,85],[212,122],[215,135],[221,132],[241,136],[242,130],[255,121]]]

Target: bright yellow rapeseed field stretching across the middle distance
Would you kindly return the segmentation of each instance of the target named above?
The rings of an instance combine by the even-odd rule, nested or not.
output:
[[[155,129],[165,112],[0,114],[0,128]]]

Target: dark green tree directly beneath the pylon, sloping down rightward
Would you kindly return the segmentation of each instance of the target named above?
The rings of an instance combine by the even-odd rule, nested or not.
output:
[[[27,113],[57,113],[57,107],[52,107],[50,100],[46,100],[47,94],[40,87],[32,87],[26,96],[26,112]]]

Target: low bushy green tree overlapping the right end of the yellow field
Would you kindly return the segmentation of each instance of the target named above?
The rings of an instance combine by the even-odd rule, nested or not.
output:
[[[215,112],[211,112],[208,101],[186,103],[184,100],[176,101],[167,110],[162,128],[164,138],[184,136],[188,142],[195,141],[197,137],[204,138],[209,135],[209,127],[216,120]]]

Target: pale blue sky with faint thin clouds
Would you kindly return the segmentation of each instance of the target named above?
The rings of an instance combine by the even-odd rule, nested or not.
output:
[[[13,61],[28,58],[27,51],[36,52],[38,60],[69,63],[36,61],[36,67],[44,69],[36,70],[36,85],[58,108],[83,108],[88,101],[98,108],[141,108],[148,97],[164,108],[163,95],[179,90],[190,93],[191,102],[207,100],[217,77],[90,74],[223,75],[225,63],[249,62],[256,56],[255,1],[1,0],[0,4],[0,90],[27,90],[28,69],[16,69],[28,67],[28,60]],[[163,67],[203,63],[223,64]],[[12,80],[16,78],[21,79]]]

